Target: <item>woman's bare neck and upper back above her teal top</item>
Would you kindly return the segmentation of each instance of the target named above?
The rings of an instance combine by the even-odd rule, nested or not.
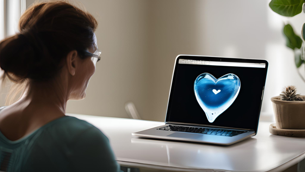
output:
[[[1,110],[2,134],[17,140],[65,116],[69,94],[66,88],[67,85],[58,82],[30,83],[21,99]]]

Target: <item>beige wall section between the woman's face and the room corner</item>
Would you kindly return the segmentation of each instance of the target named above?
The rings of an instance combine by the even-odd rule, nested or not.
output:
[[[86,99],[69,101],[67,112],[128,118],[124,103],[132,101],[139,113],[144,113],[148,65],[146,2],[82,2],[99,21],[96,36],[102,60],[90,80]]]

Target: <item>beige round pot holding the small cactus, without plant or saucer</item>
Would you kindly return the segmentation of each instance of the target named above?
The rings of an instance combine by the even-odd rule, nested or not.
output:
[[[284,101],[271,97],[278,129],[305,129],[305,101]]]

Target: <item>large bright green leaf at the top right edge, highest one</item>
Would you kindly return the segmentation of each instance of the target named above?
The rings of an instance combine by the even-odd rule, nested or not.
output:
[[[270,8],[282,16],[292,17],[302,12],[303,0],[272,0]]]

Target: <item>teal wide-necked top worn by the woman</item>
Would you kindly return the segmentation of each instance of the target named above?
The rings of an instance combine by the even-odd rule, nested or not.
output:
[[[119,172],[120,166],[98,128],[64,116],[16,141],[0,132],[0,171]]]

